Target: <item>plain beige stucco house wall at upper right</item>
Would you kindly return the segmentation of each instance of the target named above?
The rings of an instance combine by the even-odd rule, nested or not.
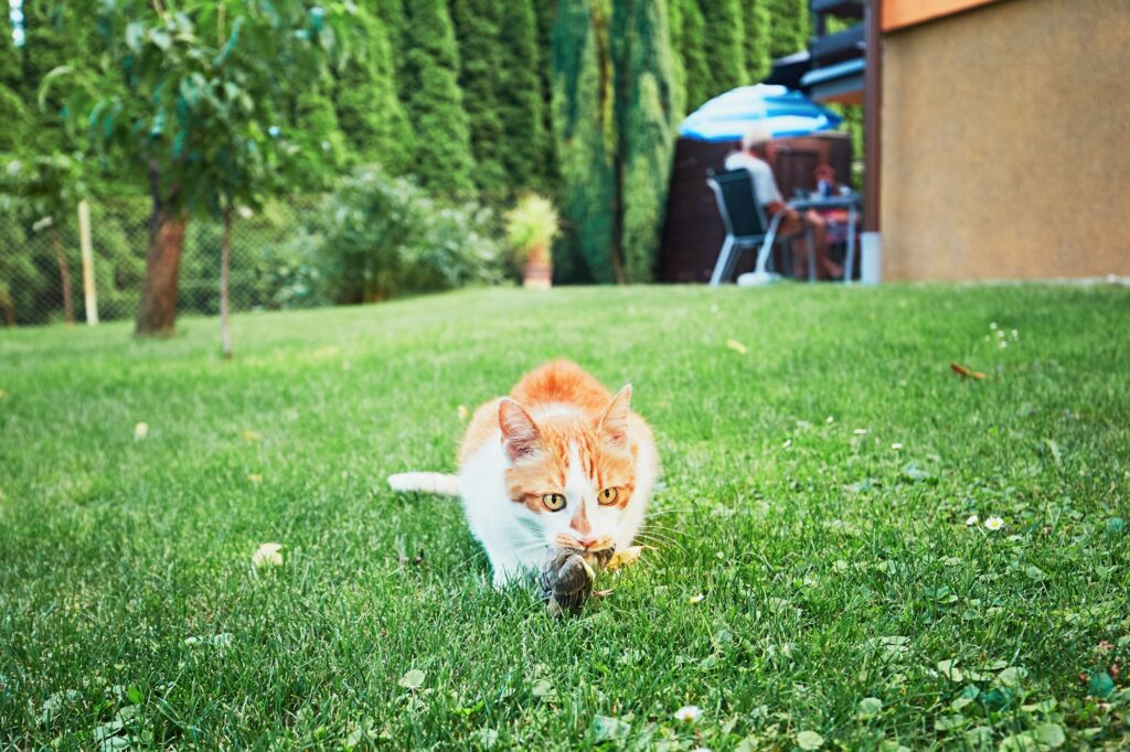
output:
[[[884,40],[888,280],[1130,274],[1130,0],[1003,0]]]

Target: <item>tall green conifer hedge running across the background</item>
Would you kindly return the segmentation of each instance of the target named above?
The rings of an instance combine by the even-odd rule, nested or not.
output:
[[[677,123],[710,97],[756,81],[774,56],[802,49],[808,36],[806,0],[358,0],[356,6],[364,54],[345,58],[302,87],[282,77],[290,88],[276,116],[280,143],[297,167],[285,189],[298,196],[324,193],[350,173],[373,174],[375,165],[384,180],[411,176],[437,206],[489,206],[492,217],[537,191],[562,213],[554,250],[558,282],[650,280]],[[90,151],[85,128],[63,128],[73,87],[82,84],[106,99],[124,97],[120,73],[104,64],[97,6],[26,0],[24,12],[21,46],[0,34],[0,163]],[[139,50],[151,54],[150,47]],[[41,106],[43,78],[63,64],[73,77],[55,80]],[[95,217],[105,222],[95,228],[97,273],[99,280],[111,274],[115,283],[104,299],[123,305],[146,245],[144,221],[134,213],[140,204],[131,203],[144,190],[130,180],[137,165],[110,148],[87,159],[77,175],[94,200]],[[287,204],[273,206],[263,211],[280,220]],[[0,321],[6,311],[17,321],[44,321],[60,301],[54,253],[41,242],[42,231],[32,229],[45,212],[11,201],[0,204]],[[282,222],[285,237],[261,231],[271,220],[258,212],[236,220],[234,263],[245,270],[279,266],[278,273],[257,277],[255,286],[270,278],[275,287],[255,287],[247,298],[254,305],[318,300],[329,294],[330,266],[341,262],[319,255],[320,218],[289,213],[295,216]],[[77,276],[72,225],[73,217],[59,220]],[[186,238],[181,305],[188,311],[212,309],[206,288],[216,274],[207,254],[217,233],[193,228]],[[238,259],[241,253],[247,259]],[[295,282],[299,269],[319,283]],[[195,272],[205,277],[198,280]],[[350,297],[356,296],[345,296]],[[76,308],[81,312],[80,300]]]

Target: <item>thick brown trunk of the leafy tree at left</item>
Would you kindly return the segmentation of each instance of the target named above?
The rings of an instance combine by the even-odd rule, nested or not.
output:
[[[149,169],[153,217],[145,260],[145,287],[138,309],[138,336],[172,336],[176,326],[176,279],[184,247],[184,216],[160,199],[157,168]]]

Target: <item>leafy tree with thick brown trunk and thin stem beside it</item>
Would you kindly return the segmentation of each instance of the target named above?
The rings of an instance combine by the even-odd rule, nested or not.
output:
[[[71,128],[89,123],[101,157],[132,156],[134,178],[148,182],[153,219],[137,334],[174,331],[189,217],[223,219],[223,279],[233,210],[257,208],[286,185],[281,177],[301,147],[284,128],[285,91],[325,78],[328,62],[354,33],[350,7],[302,0],[201,0],[182,10],[160,0],[102,3],[104,58],[120,71],[125,93],[80,89],[67,113]],[[226,292],[221,283],[229,355]]]

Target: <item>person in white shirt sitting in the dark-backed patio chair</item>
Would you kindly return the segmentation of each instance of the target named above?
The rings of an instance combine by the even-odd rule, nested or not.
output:
[[[777,226],[777,234],[782,236],[801,235],[805,231],[805,222],[812,228],[812,245],[816,256],[817,277],[822,279],[843,277],[843,268],[828,259],[827,244],[824,239],[825,222],[815,211],[806,211],[803,219],[800,212],[789,208],[781,198],[776,180],[773,177],[773,168],[770,167],[771,141],[773,133],[764,123],[754,123],[741,138],[741,151],[734,151],[725,158],[727,169],[748,169],[754,178],[754,191],[757,200],[765,207],[765,215],[772,219],[777,212],[784,212],[781,224]],[[797,276],[803,277],[808,273],[808,253],[806,253],[805,241],[793,241],[793,256],[797,260]]]

